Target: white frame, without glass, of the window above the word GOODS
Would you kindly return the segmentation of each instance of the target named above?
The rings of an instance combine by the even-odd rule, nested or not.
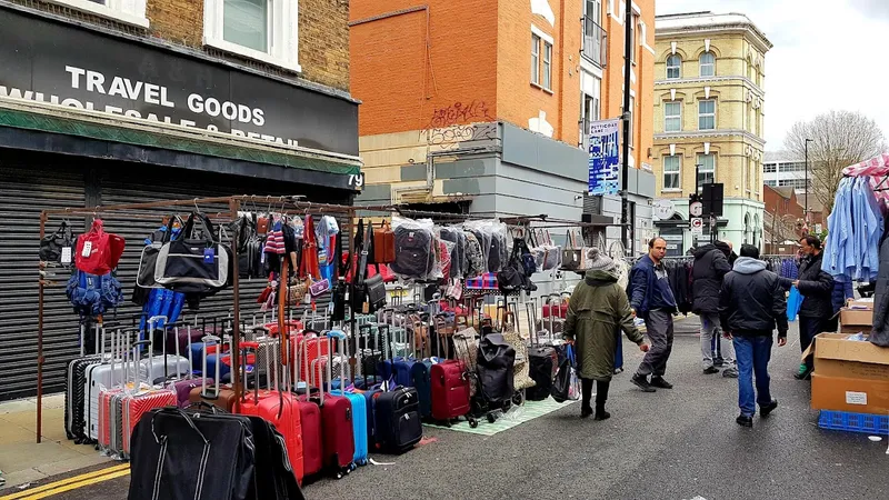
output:
[[[239,46],[224,39],[226,0],[203,1],[203,44],[224,52],[301,72],[299,64],[299,0],[267,0],[268,51]]]

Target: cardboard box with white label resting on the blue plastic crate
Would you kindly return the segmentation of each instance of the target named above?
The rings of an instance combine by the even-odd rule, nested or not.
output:
[[[813,410],[889,413],[889,380],[812,374]]]

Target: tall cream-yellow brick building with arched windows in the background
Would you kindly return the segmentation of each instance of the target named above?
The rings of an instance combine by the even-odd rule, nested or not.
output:
[[[655,26],[658,232],[671,254],[685,253],[693,244],[688,204],[696,180],[718,182],[725,189],[719,239],[736,249],[760,246],[765,59],[772,44],[739,13],[659,16]]]

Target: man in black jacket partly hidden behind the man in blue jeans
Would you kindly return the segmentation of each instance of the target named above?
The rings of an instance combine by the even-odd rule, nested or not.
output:
[[[725,244],[725,243],[723,243]],[[691,288],[695,303],[691,311],[701,320],[701,356],[703,373],[719,373],[713,366],[713,336],[719,330],[719,290],[722,278],[731,271],[726,254],[715,244],[705,244],[695,251],[695,266],[691,269]],[[719,339],[716,340],[719,342]],[[722,342],[722,377],[738,377],[735,368],[735,349],[731,342]]]

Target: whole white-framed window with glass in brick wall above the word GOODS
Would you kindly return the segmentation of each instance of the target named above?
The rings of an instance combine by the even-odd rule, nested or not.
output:
[[[203,43],[301,71],[298,0],[204,0]]]

